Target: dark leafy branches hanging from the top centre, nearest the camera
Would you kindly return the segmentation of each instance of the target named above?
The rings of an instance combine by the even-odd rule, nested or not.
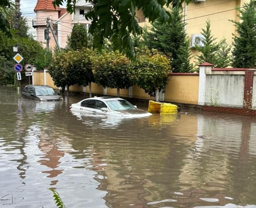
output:
[[[136,9],[142,10],[144,16],[153,23],[159,19],[160,23],[171,21],[171,14],[165,8],[169,5],[180,6],[190,0],[86,0],[94,5],[91,11],[85,14],[85,18],[92,19],[89,32],[94,36],[94,43],[97,49],[101,50],[104,38],[112,38],[114,49],[119,49],[127,57],[135,60],[136,55],[130,34],[142,34],[142,28],[136,21]],[[54,0],[53,4],[60,6],[66,2],[67,11],[75,11],[75,1]]]

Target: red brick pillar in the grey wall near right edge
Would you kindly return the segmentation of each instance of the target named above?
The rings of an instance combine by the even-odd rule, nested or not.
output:
[[[244,108],[251,109],[252,105],[252,89],[253,89],[253,76],[254,71],[245,71],[245,82],[244,82]]]

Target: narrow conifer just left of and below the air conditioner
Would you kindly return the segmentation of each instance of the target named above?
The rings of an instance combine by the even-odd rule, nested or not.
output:
[[[190,63],[192,57],[190,41],[187,39],[185,43],[186,44],[179,49],[178,60],[180,60],[180,64],[178,64],[177,72],[190,73],[193,72],[193,64]]]

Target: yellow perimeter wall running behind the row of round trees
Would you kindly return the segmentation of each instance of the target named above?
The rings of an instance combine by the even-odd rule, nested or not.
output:
[[[44,84],[44,73],[40,71],[34,72],[34,84],[43,85]],[[48,73],[46,73],[46,84],[51,86],[54,89],[58,89],[53,84],[53,80]],[[187,103],[187,104],[196,104],[198,103],[198,85],[199,85],[199,75],[171,75],[168,81],[168,84],[165,88],[164,101],[167,102],[177,102],[177,103]],[[103,95],[103,87],[92,83],[92,93]],[[78,85],[70,86],[70,91],[82,92],[83,87]],[[89,86],[86,86],[86,92],[89,92]],[[107,95],[116,96],[116,89],[107,89]],[[129,90],[121,89],[120,96],[128,97]],[[143,89],[140,89],[138,86],[133,86],[133,98],[154,100],[155,97],[150,97],[144,92]]]

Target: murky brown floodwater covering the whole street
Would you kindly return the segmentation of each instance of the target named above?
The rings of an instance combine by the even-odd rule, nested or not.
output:
[[[0,208],[56,207],[49,188],[66,208],[256,207],[255,118],[69,112],[80,100],[0,88]]]

